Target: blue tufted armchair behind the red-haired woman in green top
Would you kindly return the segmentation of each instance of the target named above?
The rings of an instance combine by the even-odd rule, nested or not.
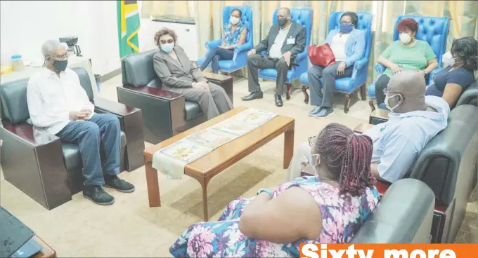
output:
[[[428,83],[433,82],[434,76],[437,75],[441,67],[441,56],[445,53],[446,48],[446,37],[448,36],[448,25],[450,19],[444,17],[432,17],[432,16],[422,16],[422,15],[401,15],[396,18],[394,25],[394,41],[399,39],[399,32],[396,30],[396,25],[400,20],[405,18],[412,18],[418,22],[418,32],[415,34],[415,39],[422,41],[427,41],[432,47],[433,52],[437,55],[438,68],[434,69],[429,74]],[[375,64],[375,71],[377,72],[377,78],[385,72],[385,67],[382,64]],[[373,104],[375,100],[375,81],[368,86],[368,97],[370,97],[370,108],[375,110]]]

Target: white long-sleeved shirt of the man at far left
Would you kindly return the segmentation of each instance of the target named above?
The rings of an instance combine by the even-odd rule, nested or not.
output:
[[[27,103],[31,123],[53,135],[70,122],[70,111],[89,109],[93,116],[94,110],[78,75],[69,68],[60,72],[60,77],[46,68],[32,76],[27,86]]]

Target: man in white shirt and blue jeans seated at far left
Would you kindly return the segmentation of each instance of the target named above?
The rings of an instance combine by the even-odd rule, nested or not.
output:
[[[120,121],[112,114],[95,114],[94,105],[67,69],[67,52],[59,41],[41,46],[44,68],[28,81],[27,102],[31,123],[78,144],[85,178],[83,196],[99,205],[111,205],[115,198],[102,186],[130,193],[134,185],[120,179]],[[105,151],[101,158],[100,149]]]

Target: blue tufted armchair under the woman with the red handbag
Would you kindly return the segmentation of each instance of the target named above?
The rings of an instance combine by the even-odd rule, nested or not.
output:
[[[332,29],[340,28],[340,16],[344,12],[334,12],[330,14],[328,22],[328,32]],[[366,81],[367,81],[367,72],[368,72],[368,57],[370,56],[370,48],[372,48],[372,18],[371,13],[366,12],[356,12],[359,16],[359,24],[357,29],[365,32],[365,51],[363,56],[354,63],[354,72],[352,72],[351,77],[346,77],[342,79],[335,80],[335,91],[345,94],[345,104],[344,112],[349,111],[350,104],[350,95],[354,93],[359,88],[361,89],[362,100],[366,100]],[[304,102],[309,103],[309,95],[307,94],[307,88],[309,85],[309,78],[307,72],[304,72],[300,76],[300,81],[302,82],[302,92],[304,92],[305,100]]]

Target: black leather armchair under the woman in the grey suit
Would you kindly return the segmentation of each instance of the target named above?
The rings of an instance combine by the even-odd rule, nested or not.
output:
[[[186,101],[179,93],[161,89],[161,81],[153,67],[155,53],[157,50],[123,57],[123,85],[117,87],[118,102],[143,111],[145,140],[153,144],[207,119],[198,103]],[[221,84],[214,78],[208,80]]]

